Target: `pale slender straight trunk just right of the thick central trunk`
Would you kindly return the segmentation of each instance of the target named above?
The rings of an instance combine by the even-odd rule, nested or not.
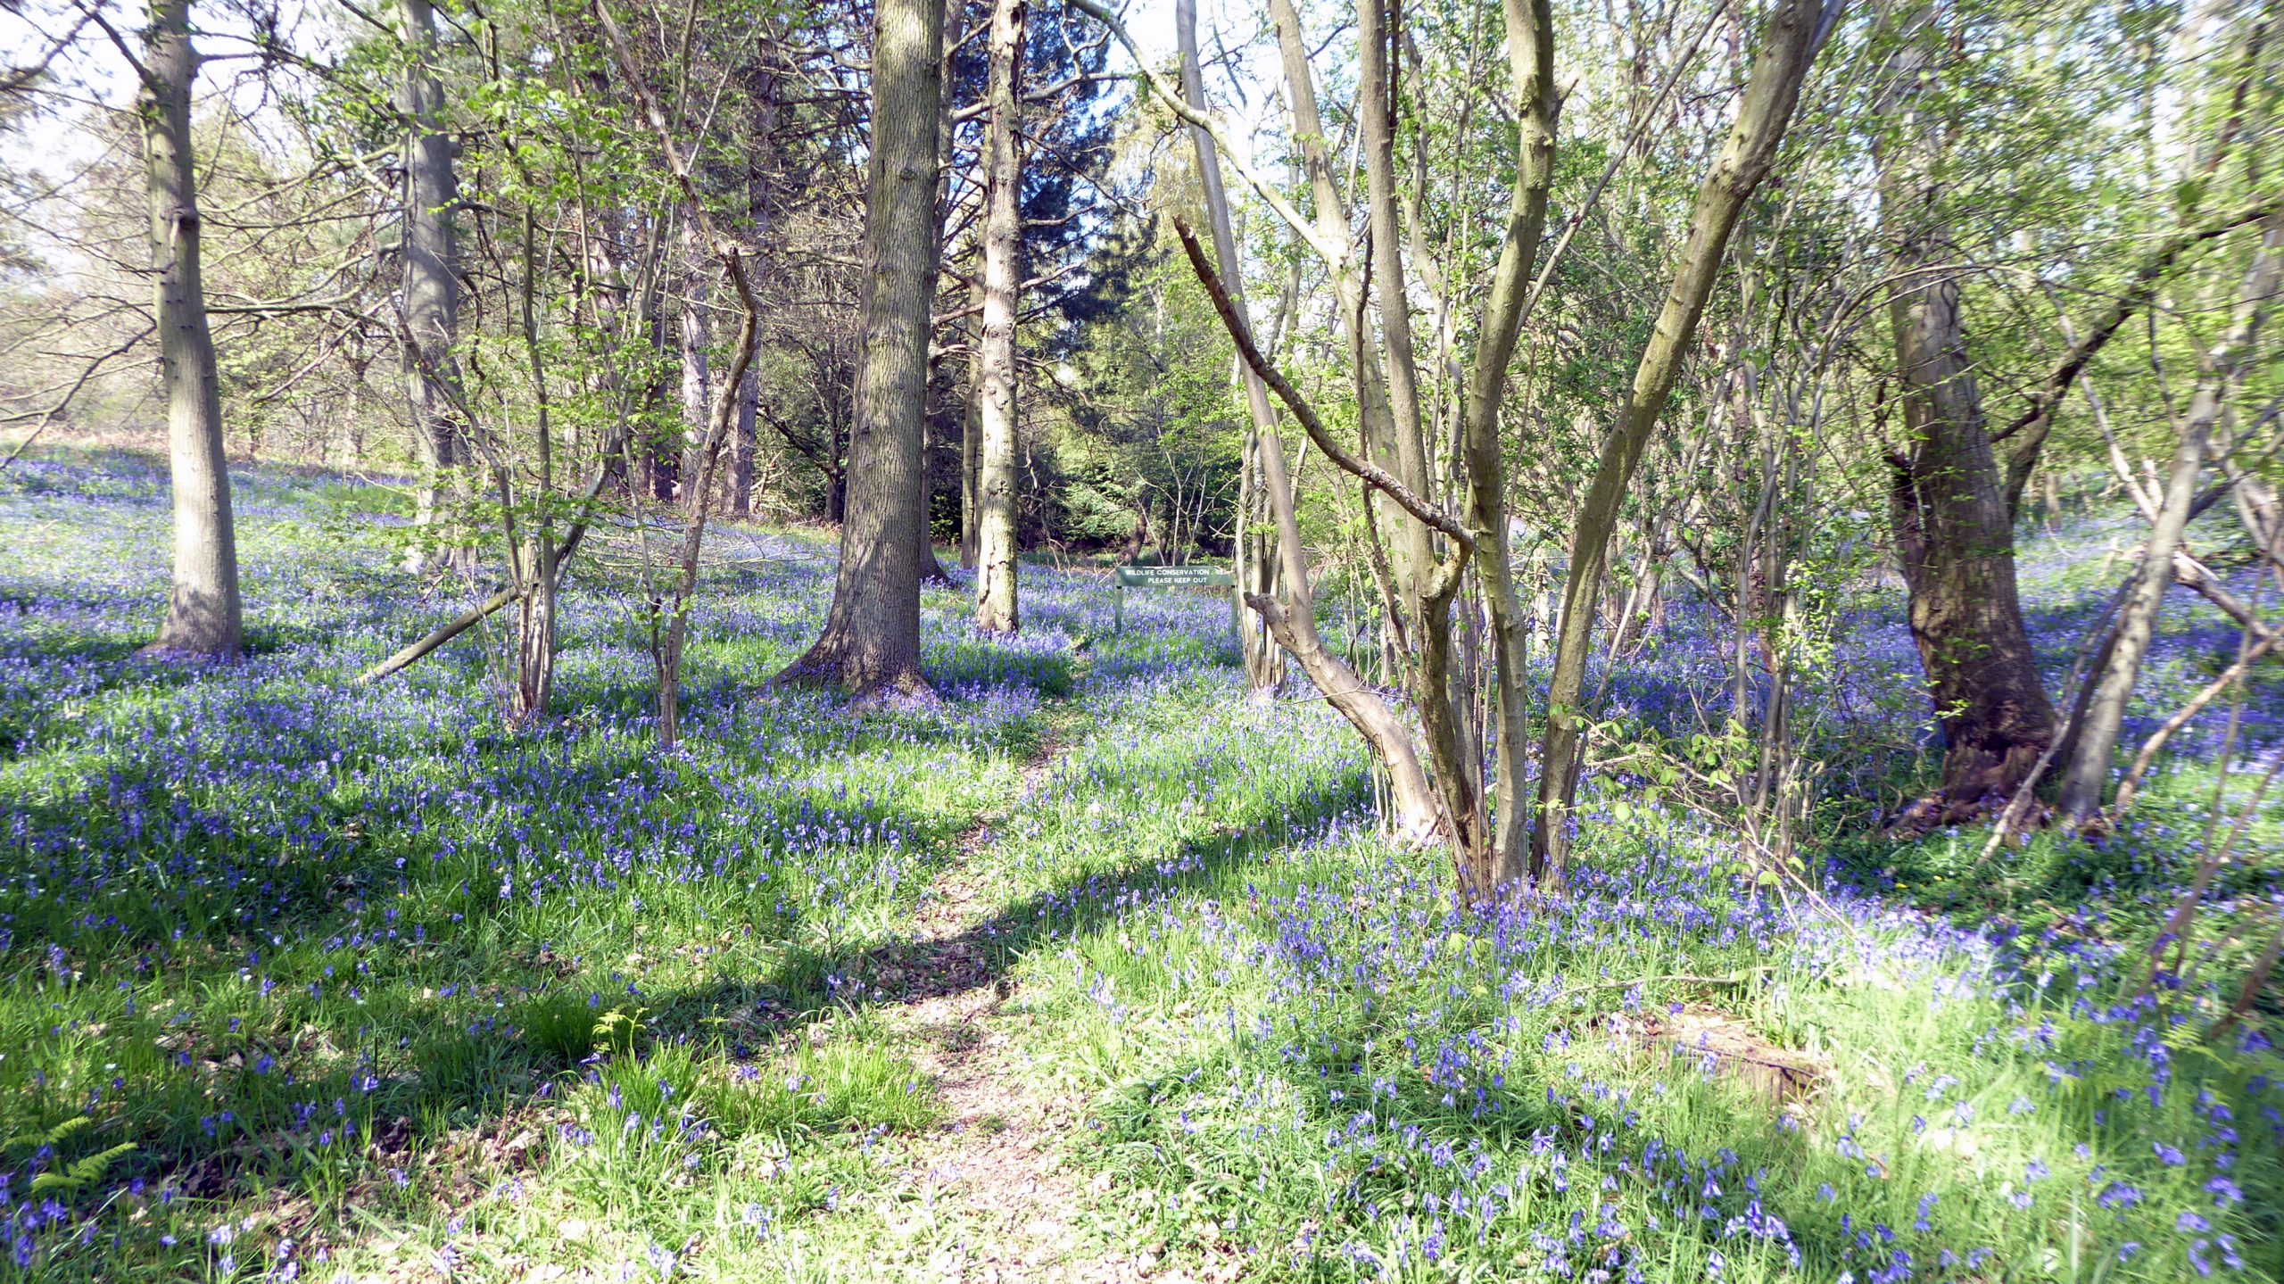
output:
[[[975,628],[1014,633],[1014,434],[1016,350],[1014,324],[1023,281],[1023,142],[1016,101],[1023,87],[1023,0],[991,5],[989,123],[984,128],[984,334],[980,521],[975,548]]]

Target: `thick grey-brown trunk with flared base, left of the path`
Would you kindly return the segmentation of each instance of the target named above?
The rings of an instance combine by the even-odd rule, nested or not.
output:
[[[943,7],[879,0],[866,190],[863,359],[847,452],[847,519],[825,633],[783,676],[859,697],[932,695],[920,674],[920,493],[927,331],[936,279],[936,107]]]

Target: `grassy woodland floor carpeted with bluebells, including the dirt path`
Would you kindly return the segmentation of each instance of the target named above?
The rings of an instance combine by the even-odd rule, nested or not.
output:
[[[1811,909],[1613,777],[1569,898],[1473,914],[1217,599],[932,592],[948,699],[859,717],[756,685],[829,544],[724,530],[660,759],[628,537],[509,736],[480,642],[349,683],[457,601],[386,491],[238,487],[256,656],[201,672],[132,658],[148,464],[0,482],[0,1279],[2284,1279],[2275,996],[2199,1042],[2277,802],[2140,996],[2227,708],[2099,848],[1834,836]],[[2026,557],[2056,672],[2099,537]],[[1670,637],[1644,727],[1720,690]],[[2231,647],[2177,605],[2136,727]],[[1900,628],[1809,697],[1829,791],[1905,797]]]

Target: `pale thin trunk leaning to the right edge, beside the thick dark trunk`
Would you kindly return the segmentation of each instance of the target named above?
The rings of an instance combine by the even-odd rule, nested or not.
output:
[[[2172,471],[2165,478],[2156,519],[2149,523],[2149,544],[2142,548],[2133,592],[2117,615],[2106,663],[2094,681],[2085,683],[2088,695],[2072,717],[2069,765],[2056,800],[2056,813],[2065,825],[2083,825],[2101,811],[2101,793],[2110,779],[2110,756],[2117,752],[2126,701],[2133,699],[2142,658],[2149,653],[2165,589],[2174,583],[2172,555],[2181,546],[2181,532],[2197,503],[2197,478],[2204,473],[2213,425],[2220,423],[2229,393],[2236,391],[2245,363],[2252,359],[2268,299],[2277,292],[2279,267],[2284,267],[2284,256],[2277,254],[2279,244],[2284,244],[2284,222],[2270,219],[2261,249],[2245,272],[2234,324],[2211,352],[2199,354],[2197,388],[2190,393]]]

